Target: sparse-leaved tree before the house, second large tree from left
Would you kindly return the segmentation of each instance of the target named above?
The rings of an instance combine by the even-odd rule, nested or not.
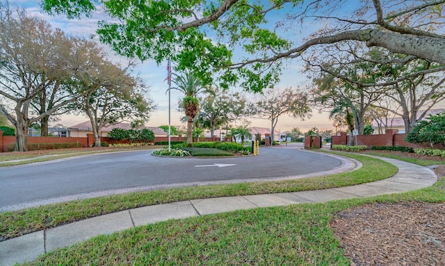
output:
[[[85,113],[92,125],[95,146],[100,147],[102,128],[122,120],[147,120],[156,108],[152,99],[146,99],[145,85],[139,78],[131,76],[128,67],[120,67],[104,58],[97,43],[83,40],[88,64],[79,70],[72,87],[81,95],[72,108]]]

